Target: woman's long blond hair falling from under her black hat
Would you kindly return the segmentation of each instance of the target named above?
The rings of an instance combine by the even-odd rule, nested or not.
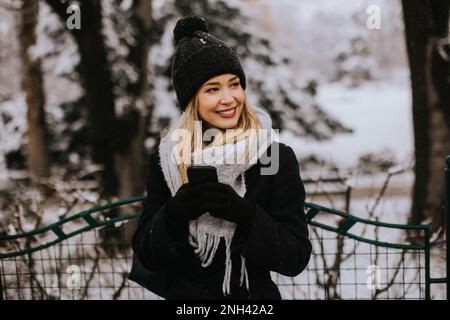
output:
[[[181,161],[178,164],[178,170],[180,172],[181,183],[187,183],[187,167],[191,163],[191,155],[195,150],[203,150],[206,144],[203,141],[203,130],[199,121],[201,118],[198,113],[199,102],[198,97],[195,95],[186,107],[184,112],[184,119],[178,129],[187,132],[187,135],[180,135],[178,137],[177,148],[178,156]],[[247,98],[244,99],[244,106],[242,108],[241,116],[234,130],[219,130],[218,134],[214,136],[214,139],[208,147],[218,147],[228,143],[236,143],[245,138],[249,138],[250,146],[254,146],[256,143],[256,135],[254,129],[260,129],[261,123],[248,104]],[[162,136],[168,134],[168,130],[162,133]],[[245,157],[249,154],[249,150],[246,150]]]

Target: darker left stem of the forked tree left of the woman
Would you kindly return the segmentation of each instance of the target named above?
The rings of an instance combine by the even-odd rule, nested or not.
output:
[[[62,22],[68,18],[68,3],[47,0]],[[117,194],[114,154],[117,145],[117,123],[114,94],[107,51],[102,34],[101,1],[80,1],[81,29],[73,29],[81,56],[83,88],[88,108],[89,139],[93,159],[103,166],[101,175],[103,195]]]

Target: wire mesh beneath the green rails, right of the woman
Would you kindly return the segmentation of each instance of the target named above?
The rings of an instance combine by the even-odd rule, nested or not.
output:
[[[290,278],[273,274],[284,299],[425,299],[426,254],[360,242],[310,227],[313,255]]]

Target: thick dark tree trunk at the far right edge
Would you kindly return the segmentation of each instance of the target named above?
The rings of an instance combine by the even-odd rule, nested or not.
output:
[[[410,223],[429,220],[431,231],[444,223],[444,161],[450,154],[449,71],[439,53],[447,38],[449,2],[403,0],[413,101],[415,174]]]

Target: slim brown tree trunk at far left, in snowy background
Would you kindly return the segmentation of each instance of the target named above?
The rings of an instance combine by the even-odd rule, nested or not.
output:
[[[30,49],[36,44],[39,1],[22,1],[19,11],[19,46],[22,62],[22,90],[26,95],[28,122],[28,171],[34,178],[48,178],[50,162],[45,124],[45,96],[41,61],[33,59]]]

